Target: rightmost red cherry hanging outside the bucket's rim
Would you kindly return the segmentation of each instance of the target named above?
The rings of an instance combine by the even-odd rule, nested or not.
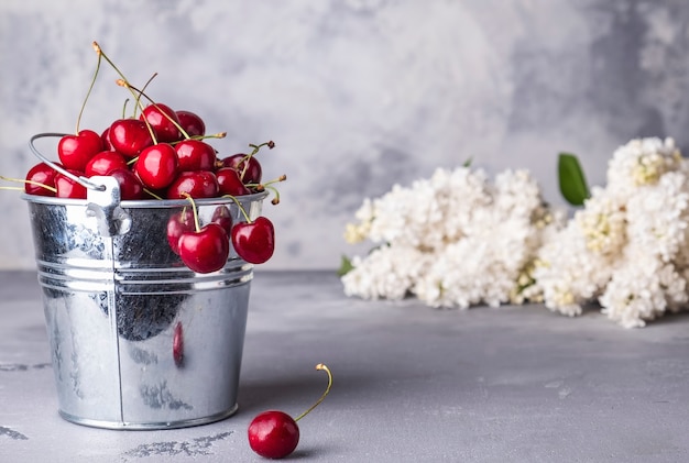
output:
[[[237,254],[251,264],[263,264],[275,251],[273,222],[265,217],[237,223],[232,227],[231,238]]]

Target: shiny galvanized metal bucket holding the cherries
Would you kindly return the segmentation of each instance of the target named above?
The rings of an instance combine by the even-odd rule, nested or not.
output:
[[[23,196],[61,416],[109,429],[229,417],[238,407],[253,266],[232,250],[220,271],[194,273],[166,238],[167,221],[188,201],[120,201],[113,178],[88,181],[97,188],[86,200]],[[265,196],[239,199],[253,219]],[[196,203],[201,224],[217,208],[244,220],[231,198]]]

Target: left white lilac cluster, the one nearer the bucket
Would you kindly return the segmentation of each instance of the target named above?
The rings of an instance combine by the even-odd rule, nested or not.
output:
[[[360,223],[347,234],[387,246],[352,260],[344,293],[368,299],[412,294],[431,307],[511,301],[531,286],[515,290],[558,217],[527,170],[506,170],[491,184],[480,169],[437,169],[364,200]]]

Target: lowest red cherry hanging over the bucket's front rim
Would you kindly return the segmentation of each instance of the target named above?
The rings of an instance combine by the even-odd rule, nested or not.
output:
[[[219,271],[229,255],[228,235],[217,223],[208,223],[198,231],[185,232],[179,236],[179,257],[194,272]]]

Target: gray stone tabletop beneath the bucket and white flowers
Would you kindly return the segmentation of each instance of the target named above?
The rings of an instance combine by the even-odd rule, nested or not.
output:
[[[254,462],[247,427],[299,422],[291,461],[689,461],[689,318],[625,330],[597,311],[436,310],[343,296],[332,273],[255,273],[240,409],[212,425],[64,421],[33,273],[0,273],[0,462]]]

